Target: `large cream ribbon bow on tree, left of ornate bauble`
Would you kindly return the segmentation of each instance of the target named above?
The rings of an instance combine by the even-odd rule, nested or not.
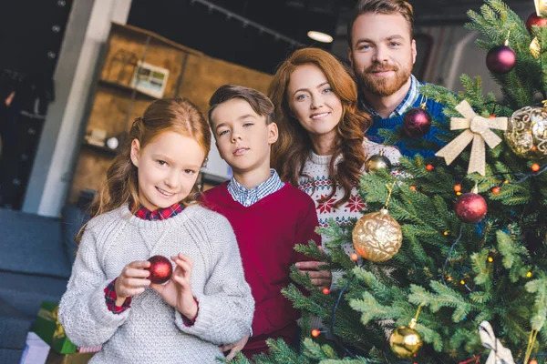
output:
[[[490,128],[505,130],[507,129],[507,117],[486,118],[475,114],[470,104],[463,100],[456,106],[462,117],[450,118],[450,130],[466,129],[463,133],[452,140],[446,147],[443,147],[435,154],[437,157],[444,157],[447,165],[450,165],[467,147],[471,140],[470,166],[468,174],[479,172],[482,176],[485,174],[486,167],[486,148],[484,142],[490,148],[497,147],[501,143],[501,137],[494,134]]]

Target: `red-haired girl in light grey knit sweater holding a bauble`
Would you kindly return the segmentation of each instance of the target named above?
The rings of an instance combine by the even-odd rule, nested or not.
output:
[[[211,131],[186,99],[153,102],[108,169],[59,305],[91,363],[212,363],[249,330],[254,301],[232,227],[196,202]],[[148,258],[170,257],[151,284]]]

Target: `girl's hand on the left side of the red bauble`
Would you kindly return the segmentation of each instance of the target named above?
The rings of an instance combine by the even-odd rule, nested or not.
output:
[[[150,261],[137,260],[125,266],[119,278],[116,279],[114,288],[116,288],[116,306],[123,305],[126,298],[139,295],[144,292],[144,287],[150,286],[150,272],[145,268],[150,267]]]

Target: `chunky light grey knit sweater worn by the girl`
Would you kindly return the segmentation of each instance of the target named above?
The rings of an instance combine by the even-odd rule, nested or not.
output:
[[[103,289],[132,261],[154,255],[191,258],[199,303],[192,326],[152,288],[121,314],[108,310]],[[171,262],[175,268],[174,262]],[[59,304],[67,337],[79,347],[102,344],[90,363],[213,363],[220,344],[237,342],[253,321],[254,300],[240,251],[225,217],[190,206],[147,221],[123,206],[90,220]]]

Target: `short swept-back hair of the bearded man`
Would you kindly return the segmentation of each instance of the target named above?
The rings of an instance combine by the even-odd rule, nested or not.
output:
[[[414,29],[414,11],[412,5],[405,0],[359,0],[354,8],[349,22],[347,22],[347,43],[353,48],[351,32],[356,18],[366,13],[374,14],[400,14],[408,22],[410,27],[410,38]]]

